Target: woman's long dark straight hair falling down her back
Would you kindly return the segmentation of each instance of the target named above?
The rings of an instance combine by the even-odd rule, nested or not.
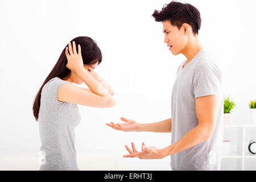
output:
[[[101,63],[101,60],[102,60],[101,50],[100,48],[98,48],[97,43],[93,39],[87,36],[79,36],[71,40],[72,46],[73,46],[73,43],[72,43],[73,41],[75,41],[76,43],[77,51],[78,51],[78,47],[77,47],[78,44],[80,44],[81,46],[82,61],[84,64],[92,65],[97,62],[98,64]],[[68,47],[68,44],[65,47]],[[43,85],[41,86],[41,88],[38,91],[38,94],[35,97],[32,110],[33,110],[33,114],[36,121],[38,121],[41,92],[42,92],[43,86],[46,85],[46,83],[54,77],[63,78],[64,80],[66,80],[66,78],[68,79],[71,74],[71,70],[66,67],[67,63],[68,63],[68,60],[65,55],[65,48],[64,48],[60,54],[60,57],[57,63],[55,64],[52,71],[47,76],[46,80],[44,80]]]

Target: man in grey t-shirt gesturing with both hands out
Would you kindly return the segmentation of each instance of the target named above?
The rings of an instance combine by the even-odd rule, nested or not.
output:
[[[146,147],[138,152],[125,146],[139,159],[161,159],[171,155],[172,170],[220,170],[224,100],[221,72],[199,42],[200,12],[188,3],[172,1],[152,16],[163,22],[164,43],[173,55],[187,59],[177,68],[172,88],[172,118],[156,123],[106,123],[115,130],[172,133],[172,144],[165,148]]]

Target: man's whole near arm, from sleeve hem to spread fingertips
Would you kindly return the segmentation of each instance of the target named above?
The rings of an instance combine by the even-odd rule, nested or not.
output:
[[[213,133],[216,113],[220,97],[218,95],[203,96],[196,98],[196,115],[198,125],[185,134],[180,140],[171,144],[168,147],[158,149],[156,147],[146,147],[142,143],[142,151],[138,152],[132,143],[133,151],[128,146],[125,146],[129,155],[124,155],[125,158],[139,159],[162,159],[168,155],[175,154],[196,146],[201,142],[209,139]]]

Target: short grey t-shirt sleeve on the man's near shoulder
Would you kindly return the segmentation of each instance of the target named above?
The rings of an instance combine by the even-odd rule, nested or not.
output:
[[[195,98],[220,94],[221,72],[210,61],[201,61],[195,67],[192,86]]]

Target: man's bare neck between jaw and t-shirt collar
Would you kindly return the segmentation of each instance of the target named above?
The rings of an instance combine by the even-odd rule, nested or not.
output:
[[[193,59],[193,57],[196,56],[196,54],[203,48],[201,43],[199,42],[199,39],[196,37],[193,37],[189,40],[187,47],[181,52],[185,57],[187,57],[186,63],[189,63]]]

